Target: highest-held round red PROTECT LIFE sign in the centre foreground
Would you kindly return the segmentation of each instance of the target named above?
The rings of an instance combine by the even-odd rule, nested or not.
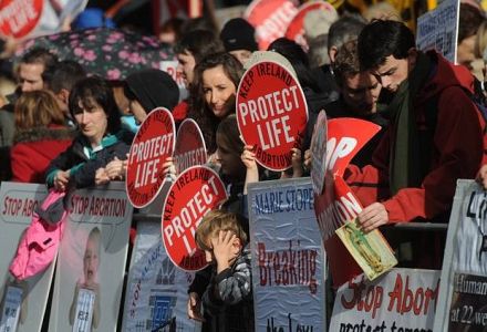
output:
[[[250,66],[237,91],[237,122],[257,162],[271,170],[291,166],[291,148],[301,148],[308,106],[298,80],[277,62]]]

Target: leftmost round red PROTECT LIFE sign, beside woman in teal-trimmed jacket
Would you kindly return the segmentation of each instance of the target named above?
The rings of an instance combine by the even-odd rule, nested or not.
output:
[[[153,110],[135,135],[128,155],[126,189],[132,205],[143,208],[159,194],[166,179],[163,164],[174,152],[173,115],[164,107]]]

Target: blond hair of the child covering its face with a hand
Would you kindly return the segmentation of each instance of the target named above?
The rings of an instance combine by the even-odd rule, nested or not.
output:
[[[244,218],[237,214],[211,210],[203,217],[201,222],[196,228],[196,245],[201,250],[211,250],[207,246],[208,239],[218,237],[219,231],[224,230],[235,234],[244,246],[247,242],[247,234],[244,230],[242,222],[245,222]]]

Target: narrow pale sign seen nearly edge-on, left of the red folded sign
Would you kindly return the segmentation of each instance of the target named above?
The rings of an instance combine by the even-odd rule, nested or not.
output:
[[[327,113],[321,111],[318,114],[317,123],[314,124],[313,136],[311,137],[311,179],[313,184],[313,191],[315,195],[323,193],[324,173],[327,170]]]

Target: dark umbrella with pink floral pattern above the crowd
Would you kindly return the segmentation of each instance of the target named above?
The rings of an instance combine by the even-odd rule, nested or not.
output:
[[[175,60],[170,46],[155,38],[110,28],[73,30],[31,39],[15,58],[35,46],[50,50],[60,60],[77,61],[89,73],[107,80],[124,80],[134,71],[159,69],[160,61]]]

